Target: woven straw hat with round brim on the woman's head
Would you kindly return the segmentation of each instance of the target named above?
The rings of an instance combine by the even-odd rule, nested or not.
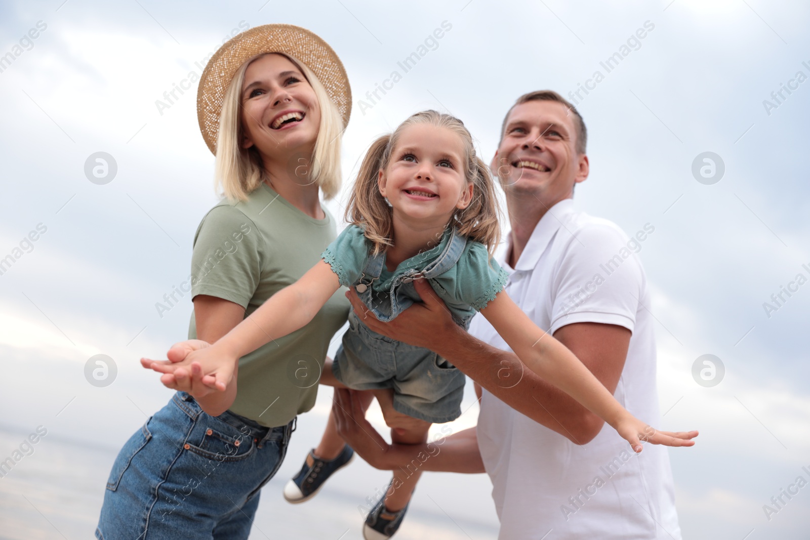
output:
[[[318,76],[326,93],[343,116],[352,114],[352,89],[335,51],[309,30],[292,24],[265,24],[245,30],[220,47],[200,76],[197,119],[208,149],[215,154],[222,100],[233,75],[250,58],[262,53],[284,53],[303,62]]]

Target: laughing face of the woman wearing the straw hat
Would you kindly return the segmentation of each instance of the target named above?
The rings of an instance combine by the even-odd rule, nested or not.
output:
[[[262,155],[311,153],[321,108],[301,70],[281,54],[266,54],[245,70],[241,89],[243,148]]]

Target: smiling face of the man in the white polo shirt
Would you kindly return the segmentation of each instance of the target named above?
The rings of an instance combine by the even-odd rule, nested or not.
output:
[[[531,193],[544,204],[571,197],[573,185],[588,176],[574,122],[558,101],[531,100],[512,108],[491,164],[507,195]]]

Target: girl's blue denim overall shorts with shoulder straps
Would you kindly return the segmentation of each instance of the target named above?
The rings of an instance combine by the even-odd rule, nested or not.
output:
[[[445,249],[422,270],[411,269],[394,278],[389,291],[373,291],[386,262],[385,253],[369,255],[360,279],[353,287],[357,296],[380,321],[391,321],[421,299],[415,279],[433,279],[450,270],[463,253],[467,238],[453,229]],[[366,317],[369,316],[366,314]],[[454,321],[467,328],[475,310]],[[352,311],[349,329],[332,366],[335,378],[349,388],[394,389],[394,409],[432,423],[445,423],[461,415],[464,374],[447,360],[423,347],[413,347],[370,330]]]

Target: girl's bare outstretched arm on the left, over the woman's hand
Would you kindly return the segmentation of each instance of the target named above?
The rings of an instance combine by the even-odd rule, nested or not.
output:
[[[202,371],[204,384],[224,391],[233,381],[242,356],[307,325],[339,287],[338,276],[329,264],[318,261],[301,279],[276,292],[211,347],[190,352],[181,362],[142,359],[141,363],[161,373],[189,366],[194,372],[196,364]]]

